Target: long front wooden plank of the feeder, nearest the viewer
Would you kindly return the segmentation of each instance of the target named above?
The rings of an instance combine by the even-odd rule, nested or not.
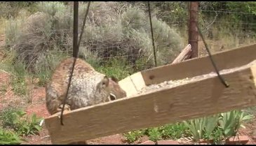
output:
[[[53,144],[67,144],[256,105],[255,69],[247,67],[173,88],[122,98],[46,118]],[[253,74],[254,73],[254,74]],[[191,92],[193,91],[193,92]]]

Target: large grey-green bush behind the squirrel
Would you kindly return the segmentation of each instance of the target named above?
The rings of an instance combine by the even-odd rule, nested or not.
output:
[[[81,28],[87,3],[79,6]],[[29,16],[25,24],[10,25],[6,31],[8,45],[17,51],[17,59],[24,61],[33,73],[38,73],[36,68],[40,67],[36,66],[41,66],[38,64],[42,62],[46,63],[44,68],[53,67],[48,66],[46,60],[52,55],[49,51],[66,52],[67,55],[72,52],[72,8],[56,1],[40,2],[36,8],[39,12]],[[92,2],[81,42],[81,57],[90,52],[95,54],[100,65],[120,56],[126,59],[124,65],[132,64],[133,68],[139,68],[137,61],[148,64],[146,68],[154,65],[147,13],[138,6],[124,9],[122,11],[117,2]],[[165,22],[156,17],[152,19],[159,65],[168,64],[182,49],[182,38]]]

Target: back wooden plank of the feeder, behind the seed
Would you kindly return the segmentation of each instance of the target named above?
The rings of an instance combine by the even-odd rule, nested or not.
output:
[[[213,54],[219,70],[243,66],[256,59],[256,44]],[[209,57],[189,59],[178,64],[168,64],[141,71],[146,85],[159,84],[165,80],[180,80],[215,71]]]

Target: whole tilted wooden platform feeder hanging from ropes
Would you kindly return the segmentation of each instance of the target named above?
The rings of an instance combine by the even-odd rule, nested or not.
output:
[[[208,57],[141,71],[119,82],[126,98],[67,112],[64,126],[57,115],[46,118],[52,143],[90,140],[256,105],[256,44],[213,54],[213,59],[230,87],[222,85]],[[194,80],[182,82],[184,78]],[[182,83],[139,94],[169,80]]]

